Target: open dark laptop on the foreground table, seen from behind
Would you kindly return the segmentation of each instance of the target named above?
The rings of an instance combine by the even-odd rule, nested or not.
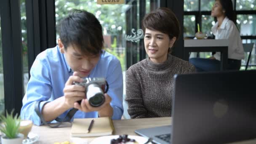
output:
[[[256,71],[175,75],[173,125],[136,130],[157,144],[220,144],[256,138]]]

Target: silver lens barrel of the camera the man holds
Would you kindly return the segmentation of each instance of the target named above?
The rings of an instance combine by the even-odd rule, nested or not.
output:
[[[88,85],[86,96],[93,107],[99,107],[105,102],[104,93],[101,87],[96,83]]]

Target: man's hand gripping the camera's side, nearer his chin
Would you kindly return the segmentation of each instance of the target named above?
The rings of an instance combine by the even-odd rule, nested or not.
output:
[[[78,76],[77,72],[74,72],[65,83],[63,89],[64,101],[67,107],[73,108],[76,101],[85,99],[85,88],[81,85],[74,85],[73,82],[83,82],[83,79]]]

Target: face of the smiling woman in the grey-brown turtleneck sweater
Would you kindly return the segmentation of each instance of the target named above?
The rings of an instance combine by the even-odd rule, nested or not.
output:
[[[167,60],[168,49],[173,46],[176,37],[171,40],[167,34],[145,29],[144,46],[151,61],[162,63]]]

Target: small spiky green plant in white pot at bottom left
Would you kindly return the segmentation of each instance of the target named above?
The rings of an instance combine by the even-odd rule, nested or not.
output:
[[[20,117],[18,114],[13,116],[13,110],[9,115],[6,111],[6,117],[0,116],[0,131],[2,133],[1,142],[2,144],[22,144],[24,135],[20,133]]]

